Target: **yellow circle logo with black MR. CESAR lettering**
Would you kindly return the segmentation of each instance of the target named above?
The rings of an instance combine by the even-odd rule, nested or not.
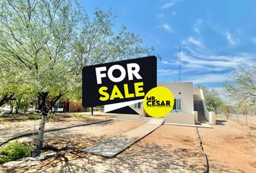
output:
[[[166,87],[157,86],[145,95],[143,107],[151,117],[164,117],[174,107],[174,94]]]

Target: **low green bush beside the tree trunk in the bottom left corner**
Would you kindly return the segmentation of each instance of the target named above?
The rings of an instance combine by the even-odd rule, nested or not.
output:
[[[30,156],[31,148],[23,143],[12,142],[4,146],[0,151],[0,164],[14,161],[25,156]]]

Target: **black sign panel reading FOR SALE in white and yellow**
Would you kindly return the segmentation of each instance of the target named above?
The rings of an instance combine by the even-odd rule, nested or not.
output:
[[[156,57],[82,68],[82,105],[95,107],[143,99],[156,86]]]

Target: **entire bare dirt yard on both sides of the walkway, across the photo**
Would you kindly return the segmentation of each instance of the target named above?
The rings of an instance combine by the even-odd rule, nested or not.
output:
[[[46,127],[59,128],[106,117],[65,117],[50,120]],[[0,140],[33,130],[39,121],[26,120],[0,126]],[[200,152],[193,127],[162,125],[118,156],[108,159],[80,152],[81,149],[120,136],[145,122],[111,120],[77,128],[45,133],[43,155],[56,152],[43,161],[29,158],[10,161],[0,166],[0,172],[204,172],[205,157]],[[28,129],[29,128],[29,129]],[[213,128],[198,128],[202,146],[208,155],[210,172],[256,172],[256,145],[249,140],[246,126],[232,120],[217,120]],[[2,136],[4,134],[4,136]],[[35,137],[18,141],[35,143]]]

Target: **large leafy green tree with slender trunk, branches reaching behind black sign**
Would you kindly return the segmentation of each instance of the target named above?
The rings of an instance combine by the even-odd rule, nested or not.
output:
[[[43,148],[46,116],[62,96],[81,97],[82,66],[148,54],[125,27],[114,32],[114,14],[90,19],[72,0],[0,1],[0,58],[11,64],[42,118],[33,156]]]

